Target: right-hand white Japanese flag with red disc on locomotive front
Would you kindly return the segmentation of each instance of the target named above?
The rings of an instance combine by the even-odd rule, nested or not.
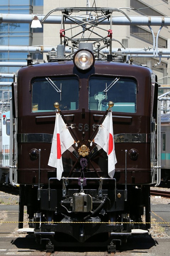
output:
[[[108,175],[113,178],[115,172],[115,164],[117,163],[114,139],[113,139],[113,122],[112,112],[109,111],[102,125],[98,129],[98,133],[93,140],[108,155]]]

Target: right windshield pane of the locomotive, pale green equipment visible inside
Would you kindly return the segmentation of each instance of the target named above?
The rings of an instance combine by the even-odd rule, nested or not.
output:
[[[113,101],[114,112],[136,112],[137,83],[134,79],[91,76],[89,80],[89,110],[105,111]]]

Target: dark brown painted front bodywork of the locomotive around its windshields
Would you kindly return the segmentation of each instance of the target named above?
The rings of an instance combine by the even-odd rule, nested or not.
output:
[[[112,62],[96,62],[94,67],[89,71],[79,71],[74,67],[73,62],[56,62],[32,65],[24,67],[18,72],[18,134],[30,133],[46,133],[53,134],[55,117],[37,118],[38,116],[55,116],[55,112],[38,112],[32,113],[32,85],[31,81],[35,77],[50,77],[57,75],[76,74],[79,77],[79,109],[74,111],[62,111],[63,114],[74,114],[74,117],[66,117],[68,123],[75,124],[74,132],[81,143],[87,144],[93,132],[93,124],[98,124],[102,117],[96,117],[94,114],[103,115],[104,111],[90,111],[88,109],[88,79],[93,74],[98,75],[115,75],[122,77],[135,78],[137,81],[137,109],[136,113],[120,113],[113,112],[113,116],[124,116],[131,118],[113,117],[114,135],[121,133],[130,134],[151,134],[151,113],[152,102],[151,95],[151,72],[149,69],[131,64],[112,63]],[[112,99],[109,99],[112,100]],[[85,114],[82,114],[82,109]],[[89,131],[79,132],[79,124],[88,124]],[[95,145],[90,147],[90,151]],[[38,142],[18,142],[18,183],[19,184],[37,184],[39,160],[31,160],[29,152],[31,149],[41,149],[41,184],[48,184],[49,177],[56,177],[56,170],[48,166],[50,156],[51,143]],[[115,153],[117,156],[117,164],[115,165],[115,178],[118,183],[125,183],[125,150],[138,150],[137,160],[127,158],[127,182],[128,184],[150,184],[151,181],[151,144],[147,143],[115,143]],[[75,148],[77,151],[77,148]],[[68,150],[63,154],[63,176],[68,176],[74,162],[75,156]],[[99,176],[107,176],[107,158],[106,154],[100,152],[99,156],[93,156],[91,161],[97,169]],[[80,164],[75,167],[74,175],[79,177]],[[86,176],[96,177],[92,166],[88,165]]]

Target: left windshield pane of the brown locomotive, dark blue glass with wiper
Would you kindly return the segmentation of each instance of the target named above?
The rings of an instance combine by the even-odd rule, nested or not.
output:
[[[79,108],[77,77],[46,77],[32,81],[32,112],[56,111],[53,106],[55,102],[60,104],[61,110]]]

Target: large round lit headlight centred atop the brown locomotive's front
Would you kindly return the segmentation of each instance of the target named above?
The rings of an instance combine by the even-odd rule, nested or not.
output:
[[[80,49],[74,54],[74,65],[79,69],[89,69],[95,63],[94,54],[88,49]]]

